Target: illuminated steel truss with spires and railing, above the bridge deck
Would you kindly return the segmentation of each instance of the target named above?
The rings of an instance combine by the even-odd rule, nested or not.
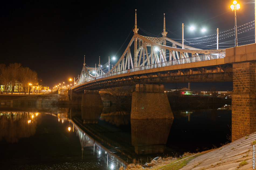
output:
[[[134,35],[130,40],[128,46],[120,56],[117,63],[109,69],[99,65],[94,67],[84,66],[80,75],[78,75],[76,85],[81,85],[88,81],[96,81],[96,79],[109,77],[111,75],[129,73],[131,71],[146,70],[152,68],[160,68],[172,66],[177,64],[200,62],[211,59],[224,58],[225,49],[220,50],[202,50],[184,45],[168,38],[165,32],[165,17],[164,17],[164,31],[163,37],[146,37],[137,33],[137,18],[135,13],[135,28]],[[167,46],[169,42],[172,46]],[[131,47],[134,46],[132,52]]]

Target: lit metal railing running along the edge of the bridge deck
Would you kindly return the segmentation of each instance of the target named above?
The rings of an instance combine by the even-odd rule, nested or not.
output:
[[[128,72],[141,71],[141,70],[147,70],[147,69],[151,69],[151,68],[159,68],[159,67],[165,67],[165,66],[173,66],[173,65],[177,65],[177,64],[201,62],[201,61],[213,60],[213,59],[222,59],[225,56],[226,56],[226,52],[224,51],[224,52],[218,52],[218,53],[209,53],[209,54],[204,54],[204,55],[199,55],[199,56],[193,56],[193,57],[188,57],[188,58],[183,58],[183,59],[178,59],[178,60],[171,60],[171,61],[162,62],[162,63],[150,64],[147,66],[141,66],[141,67],[131,68],[131,69],[124,70],[124,71],[105,74],[105,75],[78,83],[75,86],[79,86],[80,84],[83,84],[83,83],[89,82],[89,81],[96,81],[96,79],[111,77],[113,75],[119,75],[119,74],[124,74],[124,73],[128,73]]]

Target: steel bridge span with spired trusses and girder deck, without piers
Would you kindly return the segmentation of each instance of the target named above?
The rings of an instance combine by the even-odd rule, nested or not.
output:
[[[165,16],[163,37],[142,36],[138,30],[135,12],[134,35],[115,66],[108,71],[100,62],[98,67],[96,64],[95,67],[86,67],[84,59],[82,71],[71,89],[83,92],[136,83],[232,81],[232,65],[224,64],[225,49],[202,50],[186,45],[182,49],[181,43],[166,36]],[[167,42],[172,46],[167,46]],[[186,72],[192,74],[188,77]],[[181,75],[183,78],[180,79]]]

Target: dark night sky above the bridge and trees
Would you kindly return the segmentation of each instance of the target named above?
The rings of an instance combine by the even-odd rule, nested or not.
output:
[[[80,74],[84,55],[88,66],[95,67],[99,56],[102,64],[107,63],[108,56],[114,56],[130,34],[123,46],[126,48],[133,35],[135,9],[140,35],[149,36],[149,32],[162,36],[165,13],[166,28],[177,34],[170,34],[167,30],[167,37],[174,39],[181,37],[182,23],[185,26],[206,27],[208,31],[205,35],[210,35],[216,28],[219,31],[234,28],[234,12],[230,9],[232,2],[1,1],[0,63],[21,63],[23,67],[36,71],[43,84],[52,89],[54,85],[63,81],[67,83],[69,78],[74,79]],[[254,1],[238,3],[241,9],[237,11],[237,25],[253,21]],[[250,34],[254,35],[254,31]],[[192,33],[185,27],[185,38],[198,36],[203,36],[203,33]],[[116,57],[122,55],[123,48]],[[232,83],[192,84],[191,88],[198,90],[200,85],[202,90],[210,86],[232,90]],[[173,86],[175,88],[176,85],[170,88]]]

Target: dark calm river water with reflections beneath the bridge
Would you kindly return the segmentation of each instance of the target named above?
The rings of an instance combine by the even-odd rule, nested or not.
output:
[[[229,105],[172,106],[171,120],[131,120],[130,110],[1,106],[0,169],[119,169],[220,147],[231,135]]]

